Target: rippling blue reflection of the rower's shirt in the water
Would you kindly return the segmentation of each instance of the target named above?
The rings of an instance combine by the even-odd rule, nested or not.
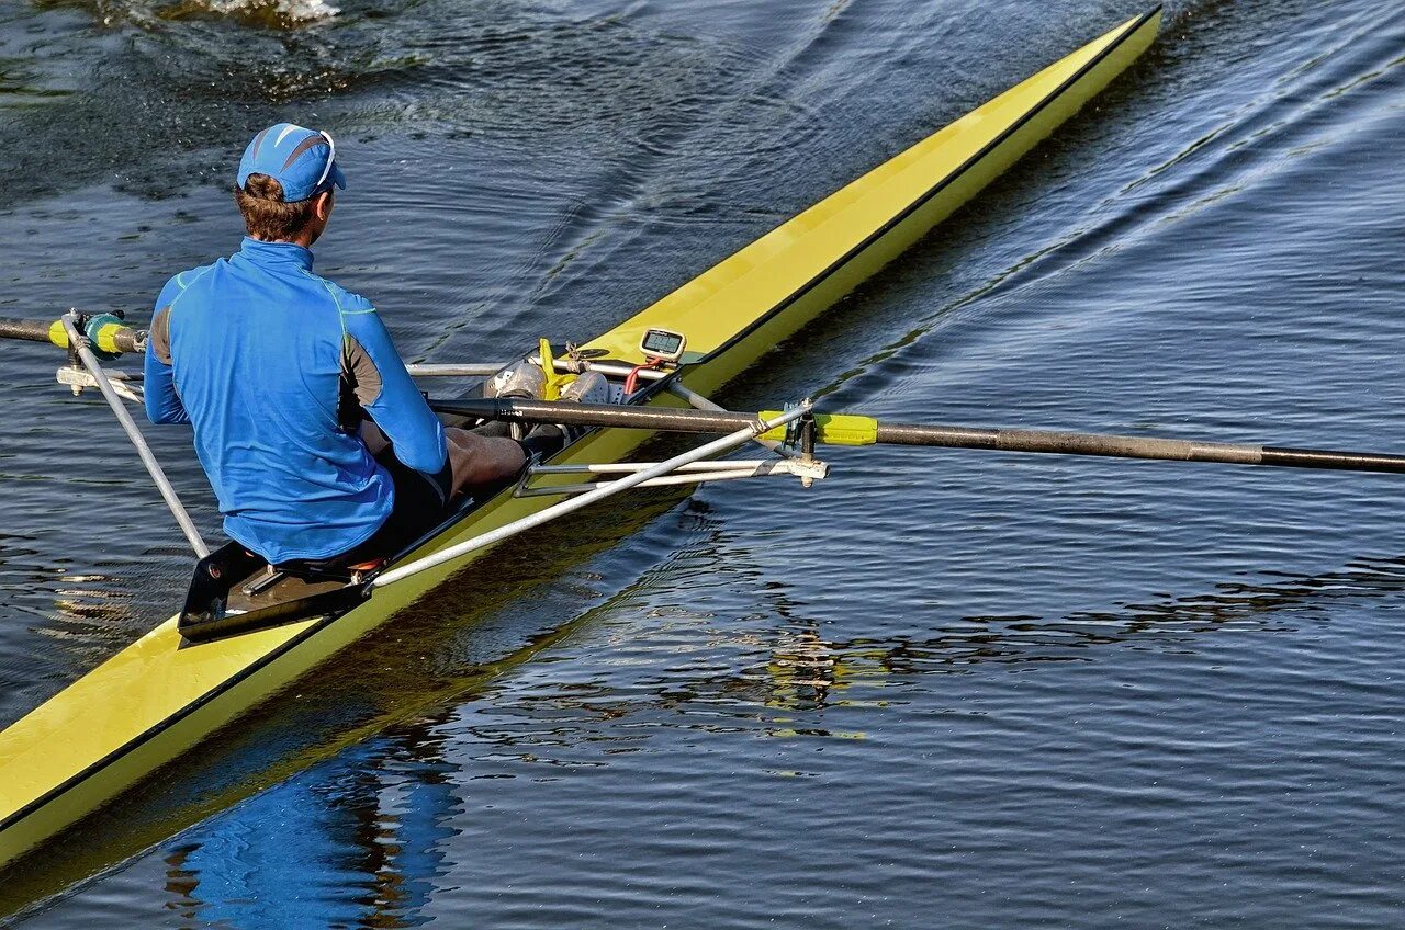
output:
[[[250,930],[423,923],[461,806],[423,750],[364,743],[197,827],[166,857],[173,906]]]

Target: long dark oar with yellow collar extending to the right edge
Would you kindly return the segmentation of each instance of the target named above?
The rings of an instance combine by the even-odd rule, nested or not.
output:
[[[731,433],[776,413],[732,413],[677,410],[625,405],[544,403],[495,398],[488,400],[433,402],[440,413],[517,423],[620,427],[673,433]],[[795,428],[795,424],[790,427]],[[760,438],[783,440],[784,433]],[[1326,468],[1350,472],[1405,473],[1405,455],[1385,452],[1338,452],[1331,450],[1281,448],[1248,443],[1146,438],[1057,430],[1002,430],[965,426],[923,426],[880,423],[867,416],[816,413],[815,441],[826,445],[929,445],[940,448],[996,450],[1002,452],[1047,452],[1055,455],[1103,455],[1151,458],[1173,462],[1224,462],[1228,465],[1273,465],[1279,468]]]

